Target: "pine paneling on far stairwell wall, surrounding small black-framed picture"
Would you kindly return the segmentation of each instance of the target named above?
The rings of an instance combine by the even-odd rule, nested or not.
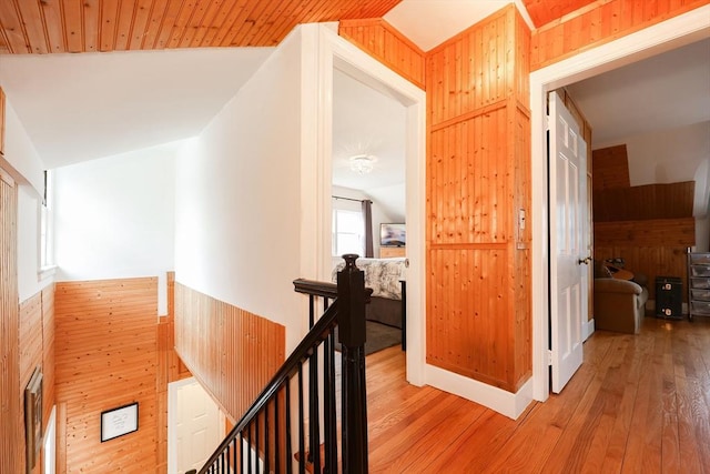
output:
[[[154,472],[158,279],[61,282],[54,301],[59,472]],[[101,412],[132,402],[138,432],[101,443]]]

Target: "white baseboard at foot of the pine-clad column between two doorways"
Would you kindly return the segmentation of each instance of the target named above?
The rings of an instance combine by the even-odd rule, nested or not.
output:
[[[517,393],[445,371],[434,365],[425,366],[426,384],[481,404],[509,418],[516,420],[532,402],[532,379]]]

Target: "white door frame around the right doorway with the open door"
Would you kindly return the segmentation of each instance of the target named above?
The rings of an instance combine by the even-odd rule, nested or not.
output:
[[[710,37],[710,6],[584,51],[530,73],[532,181],[532,396],[549,397],[549,263],[548,173],[546,138],[547,93],[631,62]]]

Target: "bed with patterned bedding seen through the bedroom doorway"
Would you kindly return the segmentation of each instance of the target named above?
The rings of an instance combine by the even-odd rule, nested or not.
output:
[[[403,327],[402,280],[405,279],[406,259],[357,259],[358,269],[365,272],[365,288],[373,290],[371,303],[365,306],[368,321]],[[333,269],[333,282],[345,262]]]

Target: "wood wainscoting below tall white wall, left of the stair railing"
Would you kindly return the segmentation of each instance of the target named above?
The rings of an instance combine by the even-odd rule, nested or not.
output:
[[[175,283],[175,350],[232,420],[285,360],[285,327]]]

